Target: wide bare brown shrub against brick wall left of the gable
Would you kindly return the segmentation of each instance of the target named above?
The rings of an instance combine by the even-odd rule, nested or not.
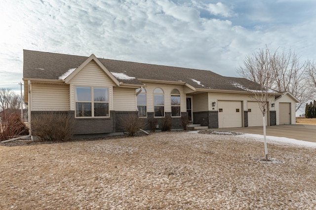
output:
[[[45,112],[32,118],[33,134],[41,141],[67,141],[74,135],[75,118],[65,112]]]

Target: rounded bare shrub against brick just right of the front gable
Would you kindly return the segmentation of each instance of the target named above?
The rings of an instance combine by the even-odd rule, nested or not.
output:
[[[119,124],[128,132],[129,136],[135,136],[139,129],[146,127],[147,122],[143,118],[139,118],[137,113],[128,113],[119,118]]]

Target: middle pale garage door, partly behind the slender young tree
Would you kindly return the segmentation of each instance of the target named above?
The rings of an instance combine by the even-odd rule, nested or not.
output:
[[[248,102],[248,126],[263,126],[262,112],[258,102]],[[268,125],[268,113],[265,115],[266,125]]]

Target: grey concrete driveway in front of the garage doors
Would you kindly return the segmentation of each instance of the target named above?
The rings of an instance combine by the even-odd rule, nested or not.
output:
[[[263,135],[263,126],[247,128],[219,128],[211,130],[235,131],[247,134]],[[316,142],[316,125],[276,125],[266,127],[267,136],[286,137],[289,139]]]

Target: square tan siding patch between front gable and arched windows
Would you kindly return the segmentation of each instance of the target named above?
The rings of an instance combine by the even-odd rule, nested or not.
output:
[[[135,89],[114,87],[113,109],[116,111],[136,111]]]

